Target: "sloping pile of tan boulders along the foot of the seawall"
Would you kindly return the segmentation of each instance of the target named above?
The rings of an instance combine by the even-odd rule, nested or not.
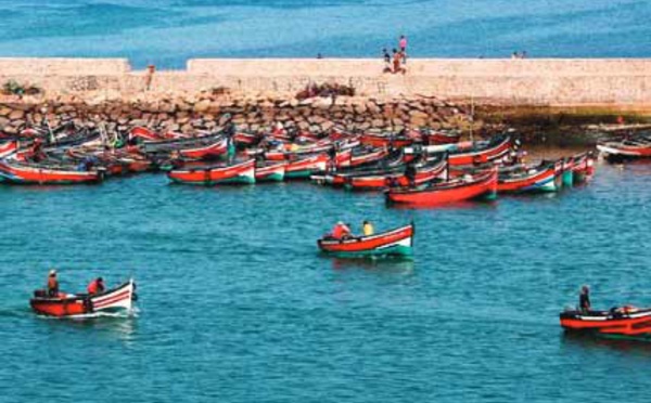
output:
[[[470,125],[468,113],[436,98],[369,99],[359,96],[277,99],[233,96],[228,91],[195,95],[146,94],[125,101],[92,101],[76,96],[0,99],[0,131],[12,134],[47,118],[51,126],[74,120],[79,125],[106,123],[125,130],[144,126],[153,130],[192,132],[212,129],[231,118],[241,130],[265,131],[281,122],[285,128],[314,132],[332,127],[346,130],[399,131],[404,128],[460,128]],[[475,127],[481,122],[473,122]]]

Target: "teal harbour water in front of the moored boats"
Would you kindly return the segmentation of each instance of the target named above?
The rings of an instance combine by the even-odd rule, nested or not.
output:
[[[647,402],[651,344],[569,338],[558,313],[582,284],[651,306],[650,176],[432,210],[155,174],[2,186],[0,401]],[[414,260],[319,256],[339,219],[413,219]],[[37,317],[50,266],[71,291],[135,276],[138,317]]]

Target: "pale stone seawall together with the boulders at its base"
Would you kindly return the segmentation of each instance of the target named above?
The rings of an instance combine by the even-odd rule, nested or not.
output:
[[[651,60],[191,60],[184,70],[132,70],[124,58],[0,58],[0,84],[41,90],[0,95],[0,130],[43,116],[191,131],[229,113],[244,129],[277,121],[316,130],[468,126],[454,103],[651,109]],[[298,100],[312,84],[355,96]],[[647,114],[647,112],[644,112]],[[475,126],[481,122],[475,121]]]

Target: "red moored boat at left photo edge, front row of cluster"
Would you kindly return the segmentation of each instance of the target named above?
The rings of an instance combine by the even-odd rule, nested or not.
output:
[[[100,169],[78,170],[78,167],[41,164],[23,164],[0,160],[0,179],[13,184],[81,184],[98,183],[104,178]]]

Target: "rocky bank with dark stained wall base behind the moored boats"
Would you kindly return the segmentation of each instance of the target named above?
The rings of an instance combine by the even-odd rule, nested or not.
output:
[[[154,131],[182,133],[210,130],[232,119],[239,130],[251,132],[268,132],[278,122],[286,129],[310,132],[326,132],[333,127],[371,132],[430,128],[460,130],[465,136],[471,129],[474,134],[489,135],[512,128],[528,142],[563,145],[592,144],[597,140],[593,127],[615,125],[618,119],[648,125],[650,116],[649,110],[615,106],[470,105],[436,96],[298,99],[244,95],[228,89],[183,95],[143,92],[108,100],[97,94],[0,95],[0,132],[7,135],[40,125],[43,119],[52,127],[74,121],[87,127],[103,123],[110,131],[142,126]]]

